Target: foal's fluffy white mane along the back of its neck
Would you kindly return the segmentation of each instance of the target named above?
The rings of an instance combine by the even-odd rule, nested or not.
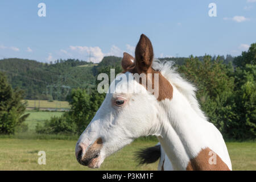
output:
[[[155,71],[159,71],[162,75],[174,86],[176,86],[177,90],[185,98],[187,98],[189,104],[196,113],[206,121],[208,118],[205,116],[204,112],[200,109],[199,102],[196,98],[196,86],[185,80],[185,78],[181,77],[179,73],[177,73],[177,68],[174,67],[173,61],[160,61],[154,60],[152,63],[152,68]]]

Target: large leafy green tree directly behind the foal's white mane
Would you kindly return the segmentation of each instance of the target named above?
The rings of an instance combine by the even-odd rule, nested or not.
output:
[[[197,86],[197,99],[201,109],[205,112],[222,134],[226,134],[226,124],[236,118],[233,111],[234,78],[229,77],[233,69],[225,65],[220,57],[212,60],[210,56],[204,56],[200,61],[197,57],[190,56],[185,64],[179,67],[179,72],[185,75],[189,81]]]

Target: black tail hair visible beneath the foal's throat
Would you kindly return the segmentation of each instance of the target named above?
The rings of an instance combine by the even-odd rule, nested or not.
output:
[[[135,152],[135,160],[138,160],[139,165],[154,163],[160,158],[160,156],[160,144],[154,147],[143,148]]]

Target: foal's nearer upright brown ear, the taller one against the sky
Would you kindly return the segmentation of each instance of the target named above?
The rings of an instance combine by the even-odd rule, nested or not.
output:
[[[146,73],[151,67],[154,57],[153,47],[150,39],[142,34],[135,49],[135,65],[138,72]]]

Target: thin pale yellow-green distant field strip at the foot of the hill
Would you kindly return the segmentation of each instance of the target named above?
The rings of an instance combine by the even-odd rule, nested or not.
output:
[[[24,101],[24,100],[23,100]],[[63,108],[63,109],[70,109],[67,101],[45,101],[45,100],[26,100],[28,102],[27,107],[39,107],[40,108]]]

